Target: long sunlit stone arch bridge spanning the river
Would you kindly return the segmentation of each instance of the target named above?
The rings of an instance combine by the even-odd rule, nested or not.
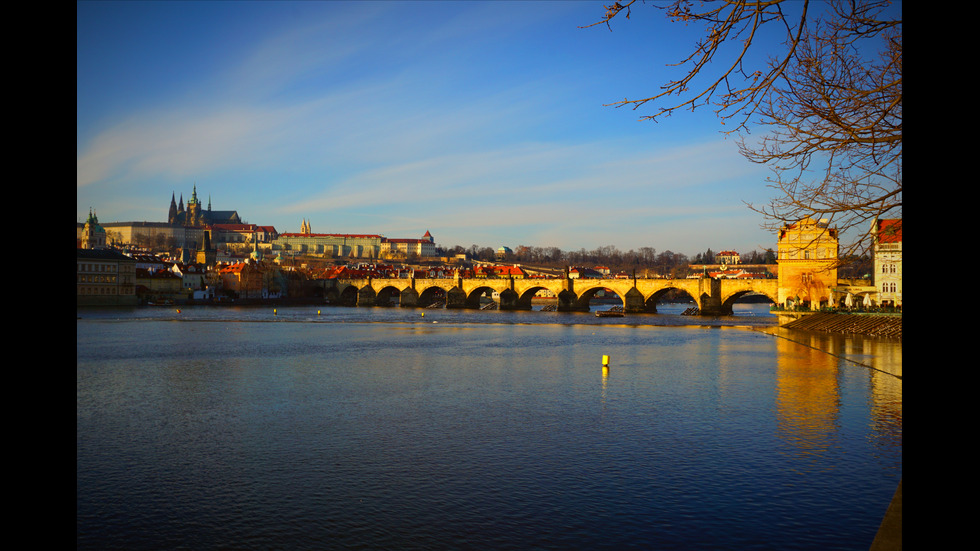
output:
[[[657,311],[660,297],[677,289],[691,296],[701,315],[730,315],[732,304],[747,293],[777,298],[775,279],[514,279],[401,278],[328,279],[324,294],[331,304],[350,306],[425,307],[445,300],[446,308],[480,307],[480,297],[499,293],[501,310],[530,310],[539,291],[558,297],[558,311],[588,312],[589,301],[602,289],[623,301],[627,313]]]

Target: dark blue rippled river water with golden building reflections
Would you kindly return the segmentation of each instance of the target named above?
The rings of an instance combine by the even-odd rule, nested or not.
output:
[[[77,548],[866,550],[901,343],[686,307],[79,309]]]

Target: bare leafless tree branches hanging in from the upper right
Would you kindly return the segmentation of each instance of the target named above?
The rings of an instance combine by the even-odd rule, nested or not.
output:
[[[700,24],[686,72],[660,91],[609,105],[660,104],[641,120],[713,106],[739,149],[770,167],[776,196],[748,207],[776,231],[805,216],[827,219],[841,256],[867,250],[872,222],[902,218],[902,20],[889,0],[672,0],[654,4],[678,24]],[[605,24],[636,0],[606,6]],[[898,15],[895,16],[894,13]],[[783,36],[753,65],[763,27]],[[758,49],[758,48],[756,48]],[[755,52],[752,52],[754,54]],[[719,63],[721,63],[720,68]],[[700,77],[700,78],[699,78]],[[698,85],[707,77],[706,84]],[[757,139],[751,129],[762,130]]]

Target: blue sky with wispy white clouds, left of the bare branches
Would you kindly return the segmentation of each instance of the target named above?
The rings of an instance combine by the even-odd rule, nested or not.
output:
[[[608,3],[608,2],[607,2]],[[641,122],[697,37],[602,1],[78,2],[84,222],[215,210],[299,231],[694,255],[775,247],[708,109]]]

